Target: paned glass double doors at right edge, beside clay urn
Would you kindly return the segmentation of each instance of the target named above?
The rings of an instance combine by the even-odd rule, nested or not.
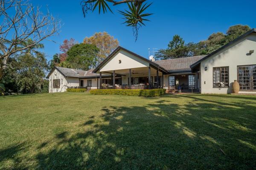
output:
[[[256,91],[256,65],[238,66],[238,82],[241,91]]]

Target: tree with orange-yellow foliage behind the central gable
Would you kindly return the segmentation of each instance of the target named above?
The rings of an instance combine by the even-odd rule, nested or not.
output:
[[[84,38],[84,44],[93,44],[99,48],[98,61],[102,62],[111,52],[119,46],[117,39],[107,32],[96,32],[91,37]]]

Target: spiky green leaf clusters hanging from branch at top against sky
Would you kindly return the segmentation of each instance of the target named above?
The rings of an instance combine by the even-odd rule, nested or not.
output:
[[[135,41],[138,37],[138,30],[141,26],[145,26],[144,21],[149,21],[146,19],[148,17],[149,13],[143,13],[149,6],[151,6],[152,3],[147,4],[146,0],[82,0],[81,6],[82,11],[85,17],[85,14],[87,14],[88,11],[94,11],[96,8],[99,9],[99,14],[101,11],[103,13],[107,12],[108,10],[112,12],[109,5],[117,6],[120,4],[126,3],[128,6],[128,9],[125,9],[123,11],[119,10],[119,13],[123,16],[124,24],[126,26],[132,27],[134,32]]]

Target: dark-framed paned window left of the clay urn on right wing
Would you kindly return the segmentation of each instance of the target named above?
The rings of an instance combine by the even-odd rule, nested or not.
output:
[[[229,87],[229,70],[228,67],[213,68],[213,88]]]

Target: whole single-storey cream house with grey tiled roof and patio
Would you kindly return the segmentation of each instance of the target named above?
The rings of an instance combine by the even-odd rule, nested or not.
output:
[[[202,94],[256,93],[256,29],[205,56],[152,61],[118,47],[88,71],[55,67],[47,76],[49,92],[67,88],[165,88]]]

